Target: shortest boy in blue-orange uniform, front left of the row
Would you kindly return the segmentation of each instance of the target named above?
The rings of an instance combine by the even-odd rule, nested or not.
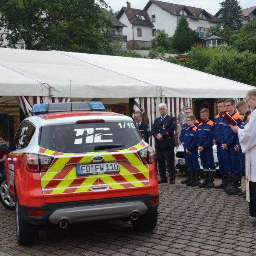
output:
[[[195,143],[195,133],[197,127],[195,126],[195,116],[187,117],[186,121],[189,125],[184,134],[184,154],[185,160],[190,173],[190,181],[186,186],[198,186],[201,183],[200,166],[198,163],[198,147]]]

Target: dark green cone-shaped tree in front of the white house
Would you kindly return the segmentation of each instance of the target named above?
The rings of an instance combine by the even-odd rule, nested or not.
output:
[[[191,49],[197,38],[196,32],[189,28],[189,23],[184,15],[179,17],[178,26],[172,36],[172,48],[180,52]]]

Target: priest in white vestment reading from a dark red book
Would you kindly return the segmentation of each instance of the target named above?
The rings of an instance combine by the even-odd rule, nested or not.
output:
[[[250,216],[256,217],[256,89],[248,91],[246,102],[253,111],[244,129],[238,126],[231,126],[232,130],[238,133],[242,152],[246,152],[248,163],[246,164],[247,201],[250,202]],[[248,193],[249,191],[249,193]],[[256,221],[253,223],[256,226]]]

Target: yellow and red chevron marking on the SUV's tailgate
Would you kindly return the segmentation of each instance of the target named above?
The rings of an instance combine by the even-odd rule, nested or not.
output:
[[[41,173],[41,185],[44,195],[87,192],[92,187],[109,186],[109,189],[125,189],[149,186],[149,169],[145,166],[137,151],[145,147],[141,142],[132,148],[118,151],[97,152],[106,162],[119,162],[119,173],[77,176],[76,164],[90,163],[93,152],[84,156],[59,153],[41,148],[40,153],[56,156],[46,173]],[[112,153],[112,154],[111,154]],[[81,153],[79,153],[81,155]],[[59,157],[61,156],[61,157]],[[59,158],[58,158],[59,157]]]

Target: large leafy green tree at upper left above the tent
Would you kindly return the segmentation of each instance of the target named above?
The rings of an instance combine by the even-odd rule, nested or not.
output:
[[[24,41],[27,49],[108,53],[110,26],[100,6],[104,0],[2,0],[1,22],[9,46]]]

